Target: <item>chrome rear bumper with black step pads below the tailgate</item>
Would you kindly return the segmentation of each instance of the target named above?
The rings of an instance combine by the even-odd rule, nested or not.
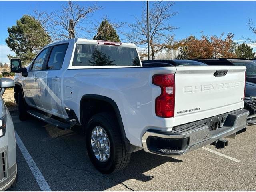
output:
[[[164,156],[181,155],[236,134],[246,128],[248,115],[249,111],[245,109],[224,114],[226,120],[223,126],[213,131],[203,124],[205,120],[178,126],[168,132],[150,129],[142,136],[143,149]]]

